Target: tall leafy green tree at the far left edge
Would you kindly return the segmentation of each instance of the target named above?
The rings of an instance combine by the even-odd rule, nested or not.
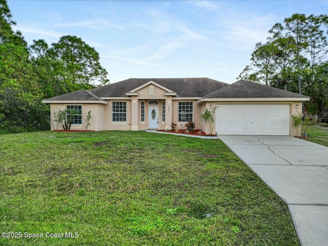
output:
[[[20,132],[36,129],[44,105],[42,92],[34,79],[27,43],[13,32],[6,1],[0,1],[0,130]]]

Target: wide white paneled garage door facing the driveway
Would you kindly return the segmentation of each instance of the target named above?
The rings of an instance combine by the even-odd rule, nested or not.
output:
[[[221,135],[289,135],[288,104],[226,104],[216,109]]]

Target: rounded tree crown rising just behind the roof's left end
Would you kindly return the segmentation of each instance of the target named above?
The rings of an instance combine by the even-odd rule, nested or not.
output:
[[[49,54],[63,61],[63,79],[72,84],[107,84],[107,71],[99,63],[98,52],[76,36],[63,36],[52,44]]]

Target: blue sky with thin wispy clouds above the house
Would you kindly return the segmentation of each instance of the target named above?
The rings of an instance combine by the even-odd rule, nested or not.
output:
[[[75,35],[93,46],[111,83],[131,77],[209,77],[234,83],[257,42],[293,13],[328,1],[8,1],[29,44]]]

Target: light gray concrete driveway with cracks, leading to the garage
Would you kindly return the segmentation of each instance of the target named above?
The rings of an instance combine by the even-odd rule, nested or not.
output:
[[[287,204],[302,246],[328,245],[328,147],[291,136],[219,136]]]

